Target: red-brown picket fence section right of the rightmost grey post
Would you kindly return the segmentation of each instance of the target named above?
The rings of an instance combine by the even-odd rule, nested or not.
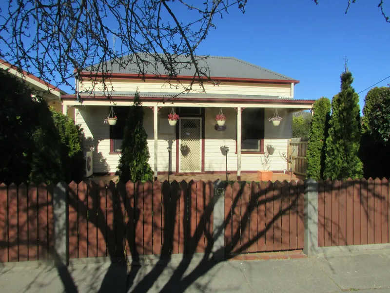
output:
[[[318,182],[318,246],[390,242],[390,186],[382,180]]]

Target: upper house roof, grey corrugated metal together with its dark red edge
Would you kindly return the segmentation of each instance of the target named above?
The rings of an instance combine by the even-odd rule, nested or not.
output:
[[[280,82],[280,83],[294,83],[297,84],[299,81],[294,80],[288,76],[282,75],[280,73],[271,71],[269,69],[260,67],[258,65],[248,63],[246,61],[234,58],[234,57],[219,57],[219,56],[200,56],[204,59],[200,59],[199,67],[206,72],[206,74],[211,79],[230,79],[231,81],[247,80],[247,81],[259,81],[264,82]],[[125,67],[122,67],[115,60],[113,62],[108,62],[107,68],[105,66],[99,66],[95,64],[93,66],[87,67],[83,71],[83,75],[91,74],[91,72],[99,71],[101,72],[102,68],[110,72],[113,77],[140,77],[144,76],[139,72],[138,64],[134,55],[127,55],[122,57],[124,63],[127,63]],[[191,78],[193,79],[195,74],[195,66],[189,62],[189,57],[186,56],[177,56],[177,61],[181,63],[183,68],[180,68],[177,72],[177,79],[182,78]],[[127,60],[126,60],[127,59]],[[165,72],[164,66],[162,63],[156,63],[153,56],[143,54],[142,59],[146,60],[146,63],[143,63],[145,69],[143,73],[144,77],[147,78],[156,78],[156,77],[167,77],[168,73]],[[123,63],[123,61],[122,61]],[[155,65],[156,64],[156,65]],[[100,63],[101,65],[101,63]],[[155,68],[156,67],[156,68]],[[100,68],[100,69],[97,69]]]

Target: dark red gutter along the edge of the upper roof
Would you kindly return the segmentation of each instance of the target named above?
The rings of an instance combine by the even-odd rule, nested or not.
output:
[[[80,72],[81,77],[102,77],[103,73],[101,72],[89,72],[89,71],[81,71]],[[126,79],[157,79],[157,80],[184,80],[184,81],[192,81],[194,80],[193,76],[187,76],[187,75],[177,75],[176,77],[170,78],[168,75],[155,75],[155,74],[134,74],[134,73],[109,73],[105,75],[106,77],[111,78],[126,78]],[[233,77],[214,77],[210,76],[210,78],[202,77],[201,78],[204,81],[209,80],[216,80],[216,81],[222,81],[222,82],[236,82],[236,83],[258,83],[258,84],[265,84],[265,83],[273,83],[273,84],[299,84],[300,81],[296,80],[269,80],[269,79],[255,79],[255,78],[233,78]]]

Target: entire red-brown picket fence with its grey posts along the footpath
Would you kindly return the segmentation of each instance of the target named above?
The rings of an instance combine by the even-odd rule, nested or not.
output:
[[[389,242],[385,178],[0,184],[0,262]]]

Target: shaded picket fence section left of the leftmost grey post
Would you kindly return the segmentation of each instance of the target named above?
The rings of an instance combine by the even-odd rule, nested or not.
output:
[[[0,262],[53,258],[53,186],[0,184]]]

